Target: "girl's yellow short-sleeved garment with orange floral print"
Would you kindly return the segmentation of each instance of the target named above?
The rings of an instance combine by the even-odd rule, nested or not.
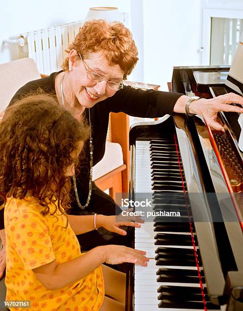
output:
[[[55,291],[47,290],[32,271],[55,259],[60,264],[81,255],[70,224],[65,228],[67,217],[57,215],[57,220],[55,215],[43,216],[40,208],[33,197],[9,198],[5,205],[6,300],[31,301],[30,308],[21,310],[99,310],[105,294],[101,266],[79,281]]]

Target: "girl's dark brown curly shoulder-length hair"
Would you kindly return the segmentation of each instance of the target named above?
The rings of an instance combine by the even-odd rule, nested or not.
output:
[[[64,213],[70,207],[70,178],[65,176],[74,161],[70,153],[88,135],[85,122],[75,119],[54,96],[25,96],[9,106],[0,122],[0,196],[4,202],[7,196],[22,199],[31,191],[43,206],[43,215],[50,213],[48,201],[57,201]]]

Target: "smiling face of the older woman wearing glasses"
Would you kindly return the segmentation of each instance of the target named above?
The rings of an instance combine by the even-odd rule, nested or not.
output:
[[[84,61],[81,58],[77,60],[76,55],[75,50],[69,55],[69,67],[72,68],[72,72],[68,72],[68,83],[79,103],[85,108],[91,108],[113,96],[116,91],[107,86],[107,81],[120,83],[123,80],[125,72],[120,66],[110,66],[102,52],[88,53]],[[87,73],[90,71],[101,76],[103,81],[97,82],[88,78]]]

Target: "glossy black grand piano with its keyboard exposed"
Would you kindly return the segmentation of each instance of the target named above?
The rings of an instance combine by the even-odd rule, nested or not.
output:
[[[242,96],[239,55],[243,59],[243,43],[231,69],[175,67],[172,91],[204,98],[227,92]],[[243,310],[238,117],[219,114],[225,133],[210,129],[199,116],[182,114],[131,128],[131,198],[142,194],[153,202],[151,212],[180,216],[155,213],[141,228],[131,229],[131,246],[146,251],[150,260],[147,267],[130,265],[127,311]]]

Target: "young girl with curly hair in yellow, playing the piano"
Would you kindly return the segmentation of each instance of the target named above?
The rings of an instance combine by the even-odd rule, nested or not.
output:
[[[82,122],[43,94],[19,100],[0,123],[6,300],[31,301],[26,310],[124,310],[125,274],[101,265],[147,265],[145,252],[126,246],[80,252],[75,234],[98,227],[126,234],[119,226],[140,226],[66,213],[70,176],[88,135]]]

